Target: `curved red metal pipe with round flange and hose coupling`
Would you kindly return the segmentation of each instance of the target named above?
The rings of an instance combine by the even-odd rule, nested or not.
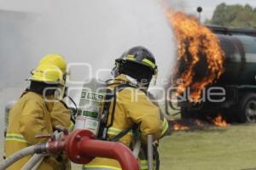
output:
[[[79,164],[86,164],[95,157],[106,157],[119,161],[123,170],[139,170],[139,164],[131,150],[124,144],[97,140],[88,130],[76,130],[64,136],[61,142],[49,141],[49,153],[65,150],[68,158]]]

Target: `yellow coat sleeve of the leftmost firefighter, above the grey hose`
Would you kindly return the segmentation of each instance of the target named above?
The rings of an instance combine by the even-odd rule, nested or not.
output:
[[[47,139],[36,139],[36,135],[49,134],[49,122],[44,115],[44,102],[28,100],[20,116],[20,133],[29,144],[37,144]],[[47,126],[48,125],[48,126]]]

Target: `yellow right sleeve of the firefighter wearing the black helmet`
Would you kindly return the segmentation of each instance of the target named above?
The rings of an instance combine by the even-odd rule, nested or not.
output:
[[[154,105],[142,91],[136,88],[125,88],[119,93],[119,101],[124,106],[126,116],[140,127],[143,141],[152,134],[154,140],[159,139],[162,126],[160,109]]]

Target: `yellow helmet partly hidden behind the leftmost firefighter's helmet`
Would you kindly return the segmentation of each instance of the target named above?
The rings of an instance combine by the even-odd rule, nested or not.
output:
[[[40,60],[39,65],[56,65],[59,67],[63,74],[66,73],[67,63],[60,54],[47,54]]]

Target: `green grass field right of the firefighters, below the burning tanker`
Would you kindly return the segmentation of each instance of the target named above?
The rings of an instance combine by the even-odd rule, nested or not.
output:
[[[174,132],[160,157],[161,170],[256,169],[256,124]]]

